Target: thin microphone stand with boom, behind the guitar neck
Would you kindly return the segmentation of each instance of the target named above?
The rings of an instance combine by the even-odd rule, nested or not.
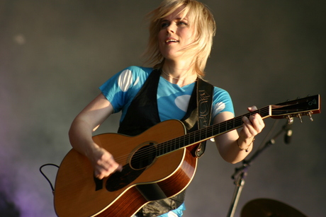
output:
[[[264,141],[264,146],[259,147],[258,150],[252,155],[248,160],[242,160],[242,166],[240,168],[235,168],[235,173],[232,175],[232,180],[235,180],[235,192],[233,193],[230,209],[227,213],[227,217],[233,217],[235,214],[235,209],[237,207],[237,202],[239,201],[242,188],[245,185],[245,177],[247,176],[247,170],[252,162],[271,145],[274,145],[275,139],[283,132],[288,130],[288,125],[293,123],[293,119],[289,118],[288,122],[282,127],[282,129],[269,141]],[[273,128],[276,126],[274,122]]]

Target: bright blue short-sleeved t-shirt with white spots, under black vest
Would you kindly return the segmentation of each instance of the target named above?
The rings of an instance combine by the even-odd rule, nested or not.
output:
[[[100,87],[103,95],[111,102],[114,112],[122,111],[123,121],[130,103],[152,72],[152,68],[130,66],[114,75]],[[166,79],[159,78],[157,106],[161,122],[167,119],[182,119],[186,115],[195,83],[180,87]],[[211,119],[220,112],[234,114],[232,100],[227,91],[214,87]]]

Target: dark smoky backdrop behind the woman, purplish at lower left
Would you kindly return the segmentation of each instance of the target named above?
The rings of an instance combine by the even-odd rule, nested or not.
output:
[[[60,164],[67,131],[98,87],[142,65],[145,14],[160,1],[0,0],[0,216],[55,216],[38,168]],[[236,115],[306,95],[325,96],[326,1],[203,1],[218,25],[206,79],[232,96]],[[116,131],[120,115],[96,132]],[[324,114],[295,119],[249,168],[237,212],[250,200],[282,201],[308,216],[326,213]],[[257,136],[254,150],[274,124]],[[286,120],[276,123],[279,131]],[[324,135],[324,136],[323,136]],[[186,197],[185,216],[226,216],[240,167],[208,142]],[[44,171],[52,182],[56,168]]]

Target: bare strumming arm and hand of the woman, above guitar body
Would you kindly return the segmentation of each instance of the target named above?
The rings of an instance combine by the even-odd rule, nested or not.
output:
[[[116,163],[111,153],[98,146],[92,139],[92,132],[112,113],[111,103],[100,93],[77,115],[69,129],[72,147],[89,158],[94,175],[100,180],[117,170],[122,170],[122,166]]]

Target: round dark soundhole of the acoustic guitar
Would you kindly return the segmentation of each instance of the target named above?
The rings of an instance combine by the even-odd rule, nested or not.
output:
[[[156,158],[156,148],[154,143],[142,146],[138,149],[130,160],[130,166],[134,170],[141,170],[151,165]]]

